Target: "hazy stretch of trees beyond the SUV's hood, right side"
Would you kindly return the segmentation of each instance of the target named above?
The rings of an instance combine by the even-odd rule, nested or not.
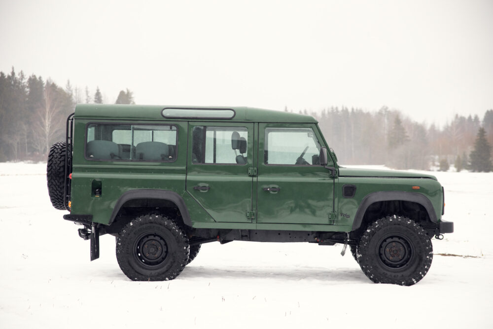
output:
[[[482,119],[456,115],[442,128],[416,122],[387,107],[376,112],[331,107],[299,113],[317,118],[341,164],[443,171],[454,165],[457,171],[493,170],[493,110],[487,110]]]

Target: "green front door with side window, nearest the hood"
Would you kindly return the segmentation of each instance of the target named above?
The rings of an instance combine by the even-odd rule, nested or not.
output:
[[[329,224],[334,180],[314,124],[259,124],[257,223]],[[263,156],[262,156],[263,155]]]

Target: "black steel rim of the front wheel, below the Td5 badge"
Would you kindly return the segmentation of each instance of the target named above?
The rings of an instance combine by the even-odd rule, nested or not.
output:
[[[400,235],[389,235],[378,245],[379,260],[389,269],[405,268],[415,255],[414,245],[409,239]]]

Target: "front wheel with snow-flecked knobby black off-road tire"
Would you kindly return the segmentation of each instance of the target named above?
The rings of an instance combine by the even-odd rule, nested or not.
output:
[[[359,241],[357,258],[371,281],[412,286],[428,272],[433,247],[414,220],[394,215],[368,226]]]

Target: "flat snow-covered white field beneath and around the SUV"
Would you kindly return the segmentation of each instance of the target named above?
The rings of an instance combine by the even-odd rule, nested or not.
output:
[[[0,163],[0,328],[493,328],[493,173],[432,174],[456,232],[415,286],[373,284],[342,245],[248,242],[203,245],[156,283],[127,279],[112,236],[89,261],[44,164]]]

